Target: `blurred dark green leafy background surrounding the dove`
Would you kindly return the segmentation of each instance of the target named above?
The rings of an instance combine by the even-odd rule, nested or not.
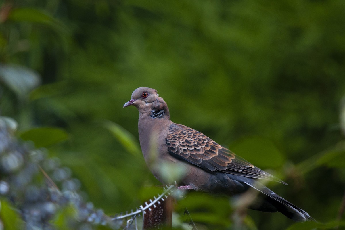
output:
[[[174,122],[271,170],[289,186],[268,186],[319,221],[249,210],[243,228],[327,229],[344,220],[344,10],[343,0],[0,1],[1,115],[114,214],[159,184],[138,112],[122,109],[137,87],[155,88]],[[232,204],[191,194],[176,210],[236,229]]]

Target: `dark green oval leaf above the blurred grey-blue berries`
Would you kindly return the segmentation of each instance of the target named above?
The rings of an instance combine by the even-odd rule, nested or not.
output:
[[[52,127],[34,128],[20,134],[23,140],[31,140],[37,148],[48,147],[68,138],[65,130]]]

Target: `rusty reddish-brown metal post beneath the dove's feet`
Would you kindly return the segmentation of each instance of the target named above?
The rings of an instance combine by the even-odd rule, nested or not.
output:
[[[143,230],[171,229],[173,198],[169,195],[156,208],[144,214]]]

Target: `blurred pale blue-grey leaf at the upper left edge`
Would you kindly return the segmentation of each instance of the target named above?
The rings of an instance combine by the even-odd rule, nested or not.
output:
[[[26,98],[41,82],[38,73],[14,64],[0,64],[0,80],[21,99]]]

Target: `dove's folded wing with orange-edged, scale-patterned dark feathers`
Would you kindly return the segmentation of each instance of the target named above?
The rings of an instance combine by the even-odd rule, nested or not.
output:
[[[181,124],[172,123],[165,138],[169,153],[194,164],[210,173],[219,171],[239,176],[284,181],[255,167],[205,136],[203,133]]]

